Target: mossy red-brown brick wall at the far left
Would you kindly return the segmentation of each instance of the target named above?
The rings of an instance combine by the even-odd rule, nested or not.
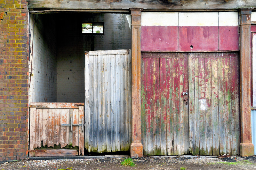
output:
[[[28,10],[0,0],[0,161],[24,159],[28,147]]]

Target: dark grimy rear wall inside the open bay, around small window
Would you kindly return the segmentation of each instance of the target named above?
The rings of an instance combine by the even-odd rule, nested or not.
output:
[[[57,102],[84,102],[84,51],[131,49],[126,15],[79,13],[58,17]],[[82,22],[104,22],[104,35],[82,34]]]

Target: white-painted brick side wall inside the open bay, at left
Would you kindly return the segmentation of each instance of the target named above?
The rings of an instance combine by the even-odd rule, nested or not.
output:
[[[57,101],[57,53],[56,29],[50,15],[33,15],[30,19],[31,41],[33,40],[33,63],[31,85],[29,88],[30,102]],[[31,67],[30,56],[29,66]],[[30,68],[29,68],[30,72]]]

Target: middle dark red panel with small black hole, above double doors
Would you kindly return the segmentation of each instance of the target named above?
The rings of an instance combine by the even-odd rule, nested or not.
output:
[[[190,46],[193,46],[191,48]],[[217,51],[218,26],[179,26],[180,51]]]

